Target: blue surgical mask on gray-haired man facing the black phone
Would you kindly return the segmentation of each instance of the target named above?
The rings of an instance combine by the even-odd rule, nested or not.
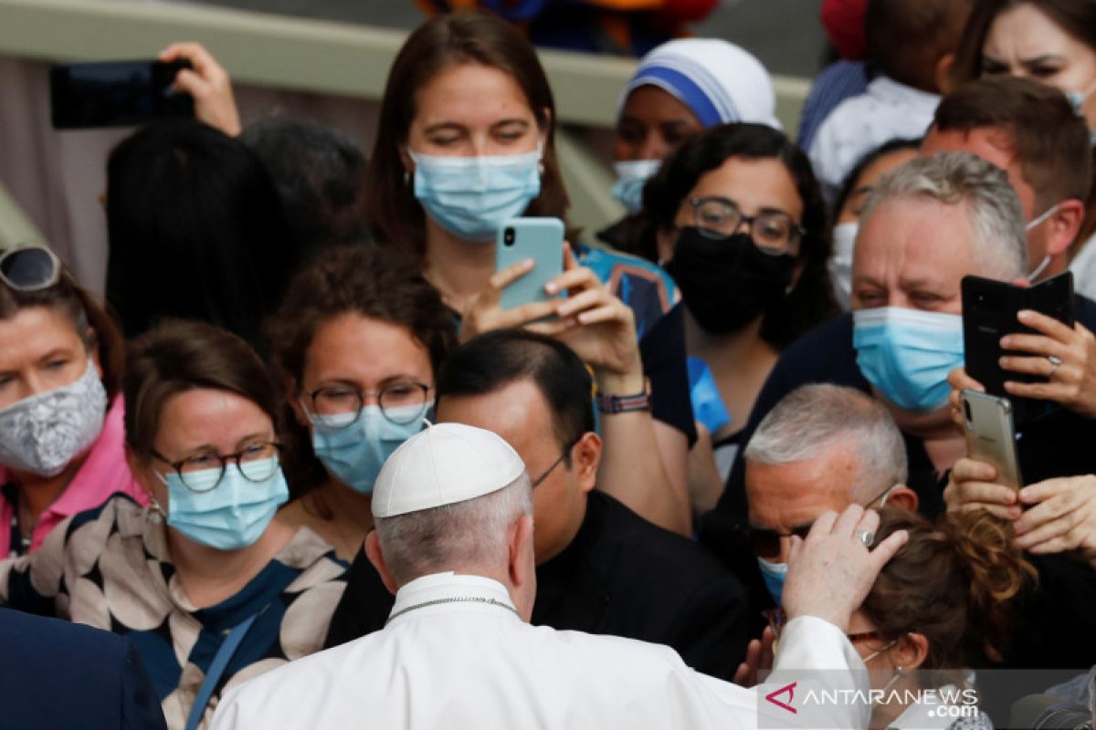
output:
[[[962,316],[881,306],[853,313],[856,364],[903,410],[947,404],[948,373],[963,364]]]

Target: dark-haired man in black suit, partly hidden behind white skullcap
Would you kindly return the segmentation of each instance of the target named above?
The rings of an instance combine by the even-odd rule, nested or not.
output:
[[[707,551],[594,489],[604,475],[590,391],[568,346],[500,329],[449,356],[436,420],[494,431],[535,477],[535,625],[664,644],[693,669],[729,680],[761,614],[746,610],[741,584]],[[390,609],[391,594],[359,553],[328,647],[381,628]]]

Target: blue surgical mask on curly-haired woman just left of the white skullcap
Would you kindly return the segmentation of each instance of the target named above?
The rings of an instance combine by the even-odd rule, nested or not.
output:
[[[386,418],[380,406],[365,406],[354,420],[354,414],[318,416],[312,421],[312,451],[340,482],[354,491],[367,495],[380,474],[380,467],[397,448],[422,430],[426,416],[423,406],[389,408]]]

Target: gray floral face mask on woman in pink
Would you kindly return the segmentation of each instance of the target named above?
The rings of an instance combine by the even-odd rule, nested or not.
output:
[[[57,476],[94,443],[106,417],[106,391],[94,363],[75,382],[0,409],[0,464]]]

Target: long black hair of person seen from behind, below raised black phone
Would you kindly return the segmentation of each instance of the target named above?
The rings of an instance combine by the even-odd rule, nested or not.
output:
[[[127,337],[185,318],[260,345],[298,252],[243,142],[197,121],[134,132],[107,162],[106,222],[106,299]]]

